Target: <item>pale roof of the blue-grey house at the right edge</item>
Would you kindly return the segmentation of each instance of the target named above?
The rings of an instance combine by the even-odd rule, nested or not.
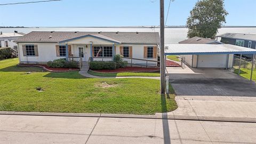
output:
[[[225,33],[225,34],[222,34],[222,35],[218,35],[217,37],[256,41],[256,34]]]

